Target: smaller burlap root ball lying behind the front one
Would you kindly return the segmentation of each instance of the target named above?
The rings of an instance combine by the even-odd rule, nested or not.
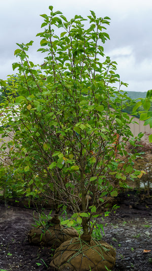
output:
[[[50,246],[53,248],[58,248],[63,242],[75,236],[79,236],[77,230],[60,224],[55,224],[49,228],[33,228],[27,235],[28,241],[31,245],[42,245],[44,247]]]

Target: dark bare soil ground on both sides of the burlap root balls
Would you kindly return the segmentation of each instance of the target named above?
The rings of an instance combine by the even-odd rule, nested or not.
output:
[[[117,251],[113,271],[151,271],[152,201],[133,191],[119,195],[118,204],[116,213],[98,221],[106,225],[103,240]],[[51,248],[31,246],[27,240],[33,210],[0,203],[0,212],[0,271],[51,271]]]

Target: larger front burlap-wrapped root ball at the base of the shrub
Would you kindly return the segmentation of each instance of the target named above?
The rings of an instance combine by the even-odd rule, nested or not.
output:
[[[115,262],[116,252],[107,243],[95,239],[86,242],[76,237],[56,249],[50,267],[56,271],[107,271]]]

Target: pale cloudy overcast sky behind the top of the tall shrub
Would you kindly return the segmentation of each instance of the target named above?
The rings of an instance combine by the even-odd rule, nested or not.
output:
[[[151,0],[6,0],[0,1],[0,79],[14,74],[12,63],[16,43],[33,40],[30,60],[42,64],[40,48],[43,18],[40,14],[60,10],[68,19],[75,14],[86,17],[93,10],[98,17],[111,18],[107,32],[110,41],[104,44],[104,53],[118,63],[121,80],[128,83],[126,91],[146,92],[152,89],[152,1]]]

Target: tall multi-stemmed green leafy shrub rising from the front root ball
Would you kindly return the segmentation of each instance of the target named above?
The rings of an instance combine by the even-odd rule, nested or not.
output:
[[[129,141],[134,148],[142,134],[133,138],[132,118],[122,110],[128,97],[121,86],[126,84],[117,74],[117,63],[104,56],[109,18],[97,18],[91,11],[87,19],[75,15],[68,21],[49,9],[49,16],[41,15],[45,29],[37,34],[38,51],[47,54],[44,65],[28,60],[32,41],[17,44],[17,78],[10,86],[1,80],[9,95],[1,104],[0,130],[2,137],[12,138],[2,144],[1,154],[9,155],[12,179],[26,196],[43,195],[57,208],[66,204],[88,234],[97,207],[118,195],[115,180],[126,187],[127,176],[139,174],[133,168],[136,154],[128,154],[125,145]],[[119,89],[113,86],[116,82]]]

